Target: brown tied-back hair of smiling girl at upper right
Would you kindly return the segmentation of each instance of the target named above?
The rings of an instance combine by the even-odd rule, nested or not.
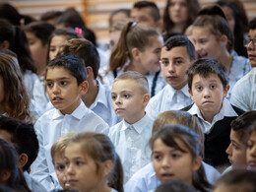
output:
[[[225,47],[228,52],[231,52],[233,48],[233,34],[223,17],[219,15],[201,15],[195,20],[193,27],[207,28],[218,40],[222,35],[225,35],[227,38]]]

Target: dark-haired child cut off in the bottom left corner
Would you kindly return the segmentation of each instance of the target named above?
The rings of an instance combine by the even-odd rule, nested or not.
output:
[[[32,192],[18,166],[15,149],[5,140],[0,139],[0,185],[15,191]]]

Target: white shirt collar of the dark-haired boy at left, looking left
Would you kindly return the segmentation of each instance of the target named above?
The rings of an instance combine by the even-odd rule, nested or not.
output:
[[[82,119],[83,116],[88,113],[88,108],[87,106],[85,105],[85,103],[80,100],[80,105],[70,114],[71,116],[77,118],[77,119]],[[57,119],[57,118],[63,118],[65,115],[63,115],[60,110],[54,108],[53,109],[53,115],[52,115],[52,119]]]

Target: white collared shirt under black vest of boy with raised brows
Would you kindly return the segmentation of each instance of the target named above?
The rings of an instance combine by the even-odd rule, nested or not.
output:
[[[192,115],[197,115],[198,119],[202,125],[203,131],[204,133],[208,134],[211,130],[211,128],[213,127],[213,125],[217,122],[220,121],[222,119],[224,119],[224,117],[228,117],[228,116],[238,116],[237,113],[234,111],[233,107],[231,106],[230,102],[224,97],[223,99],[223,106],[221,111],[216,114],[213,118],[213,122],[209,123],[208,121],[206,121],[204,119],[204,117],[202,116],[200,109],[198,108],[198,106],[196,105],[196,103],[193,104],[193,106],[188,110],[188,112]]]

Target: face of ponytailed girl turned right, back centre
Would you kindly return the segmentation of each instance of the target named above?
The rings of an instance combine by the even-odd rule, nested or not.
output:
[[[136,59],[142,64],[141,73],[147,75],[150,72],[160,71],[160,49],[163,44],[161,36],[152,36],[150,46],[146,46],[144,51],[139,51]]]

